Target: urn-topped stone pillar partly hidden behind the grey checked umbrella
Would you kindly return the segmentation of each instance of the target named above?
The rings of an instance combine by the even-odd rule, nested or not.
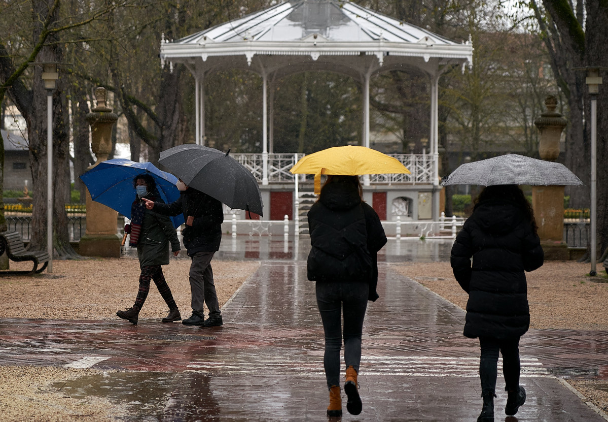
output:
[[[559,139],[567,122],[555,111],[558,102],[554,96],[545,100],[547,111],[534,121],[541,139],[539,153],[542,160],[555,161],[559,155]],[[533,186],[532,208],[538,225],[545,259],[570,259],[564,237],[564,186]]]

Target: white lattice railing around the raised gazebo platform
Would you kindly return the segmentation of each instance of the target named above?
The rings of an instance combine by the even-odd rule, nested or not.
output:
[[[412,174],[373,174],[370,175],[371,183],[409,183],[416,185],[419,183],[433,183],[435,169],[434,156],[428,154],[387,154],[395,157]],[[282,153],[268,154],[268,182],[269,183],[290,183],[294,181],[295,175],[289,169],[300,160],[304,154]],[[256,180],[262,181],[263,155],[262,154],[232,154],[232,157],[254,175]],[[304,180],[305,177],[302,177]]]

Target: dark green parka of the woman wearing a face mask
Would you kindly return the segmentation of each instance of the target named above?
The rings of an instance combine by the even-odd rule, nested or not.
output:
[[[167,216],[154,213],[149,209],[143,214],[142,231],[137,242],[139,266],[164,266],[169,263],[169,244],[171,251],[181,249],[178,234]]]

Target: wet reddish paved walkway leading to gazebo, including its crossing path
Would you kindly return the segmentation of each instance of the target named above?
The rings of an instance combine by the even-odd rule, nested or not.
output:
[[[250,244],[237,252],[247,248],[255,251]],[[269,258],[277,248],[258,246],[264,262],[224,306],[222,327],[4,318],[0,364],[119,370],[53,387],[122,403],[125,421],[327,421],[314,284],[293,244],[295,259]],[[395,248],[389,245],[384,261],[396,259]],[[417,259],[445,259],[441,248],[419,248]],[[383,262],[379,272],[381,298],[365,318],[363,412],[344,410],[342,420],[475,421],[482,404],[478,343],[461,334],[465,313]],[[517,418],[506,418],[499,373],[496,420],[604,421],[561,380],[606,379],[608,386],[607,334],[529,332],[520,348],[528,401]]]

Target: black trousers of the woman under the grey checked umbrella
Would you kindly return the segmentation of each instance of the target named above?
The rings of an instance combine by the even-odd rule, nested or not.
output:
[[[497,340],[479,337],[482,357],[479,360],[479,376],[482,381],[482,396],[494,395],[496,377],[498,376],[498,353],[502,353],[502,373],[505,376],[505,390],[516,390],[519,387],[519,338]]]

